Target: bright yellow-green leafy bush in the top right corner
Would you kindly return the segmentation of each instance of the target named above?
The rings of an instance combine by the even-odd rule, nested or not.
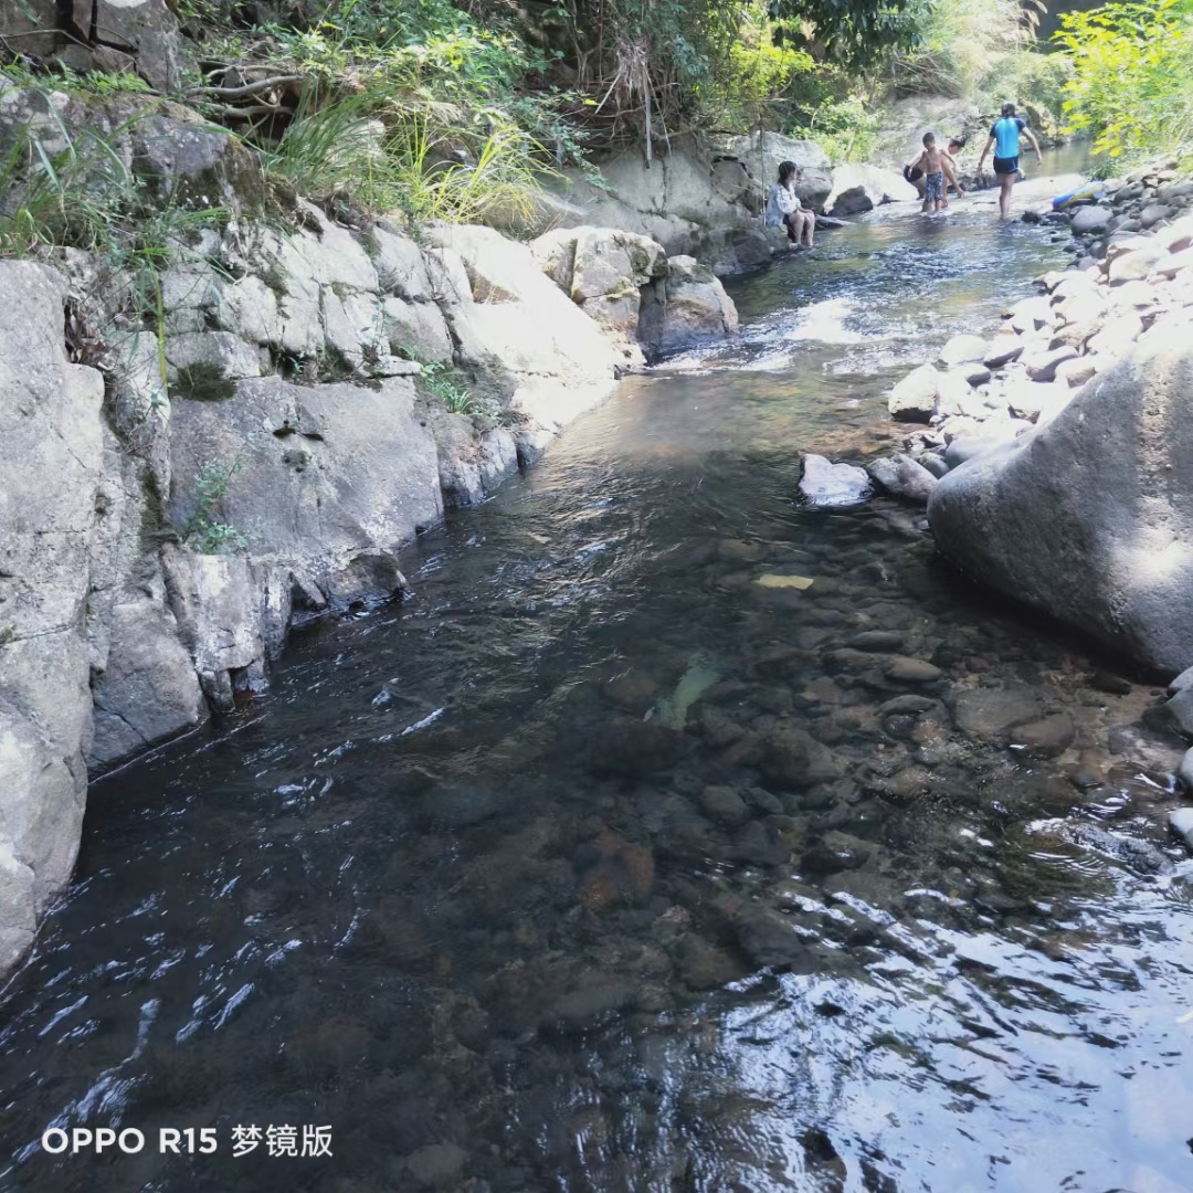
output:
[[[1193,156],[1193,0],[1111,4],[1062,18],[1065,111],[1111,159]]]

